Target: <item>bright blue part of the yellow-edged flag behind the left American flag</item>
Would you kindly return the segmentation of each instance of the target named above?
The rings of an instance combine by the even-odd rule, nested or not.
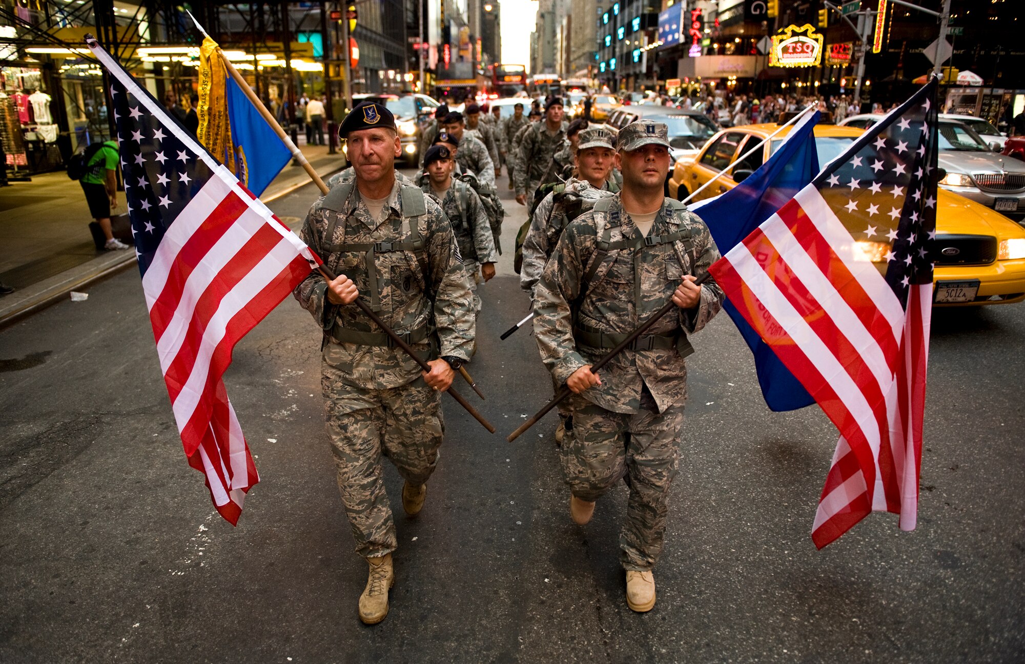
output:
[[[231,77],[227,77],[225,83],[236,176],[246,189],[259,196],[292,154],[238,84]]]

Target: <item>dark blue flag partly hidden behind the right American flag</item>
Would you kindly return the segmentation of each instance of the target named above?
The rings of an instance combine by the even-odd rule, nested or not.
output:
[[[805,116],[769,161],[743,182],[715,199],[691,206],[708,225],[722,253],[746,238],[818,174],[819,158],[812,132],[818,120],[818,111]],[[758,384],[769,408],[780,412],[814,404],[808,390],[737,308],[729,300],[723,307],[754,354]]]

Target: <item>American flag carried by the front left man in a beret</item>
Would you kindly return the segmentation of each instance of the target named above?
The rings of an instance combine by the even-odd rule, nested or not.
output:
[[[111,75],[125,198],[189,464],[233,525],[259,478],[222,376],[235,344],[320,260],[94,40]]]

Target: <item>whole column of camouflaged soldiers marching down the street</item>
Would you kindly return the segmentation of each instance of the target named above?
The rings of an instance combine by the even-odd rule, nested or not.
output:
[[[524,205],[545,178],[558,179],[550,191],[541,186],[529,219],[521,286],[532,299],[541,360],[555,386],[572,391],[557,434],[569,511],[586,524],[597,500],[624,480],[626,601],[650,611],[680,455],[688,335],[723,300],[712,280],[695,281],[719,252],[704,223],[662,195],[665,125],[639,121],[618,135],[578,125],[571,142],[558,98],[537,122],[524,120],[522,107],[504,122],[486,123],[479,114],[474,105],[465,116],[440,112],[422,150],[423,171],[411,181],[395,170],[402,153],[392,114],[373,102],[354,109],[339,127],[352,169],[332,178],[300,234],[329,268],[311,273],[295,297],[322,332],[338,489],[356,552],[369,568],[360,619],[385,618],[395,582],[398,543],[382,457],[405,481],[404,511],[417,515],[444,434],[441,392],[476,350],[476,285],[495,274],[500,233],[487,197],[503,164]],[[482,195],[489,185],[491,194]],[[591,371],[670,300],[670,315],[600,374]],[[429,371],[396,347],[375,318]]]

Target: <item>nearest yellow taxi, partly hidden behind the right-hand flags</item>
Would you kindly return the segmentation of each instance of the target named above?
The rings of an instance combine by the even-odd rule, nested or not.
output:
[[[669,176],[669,196],[685,200],[778,128],[776,124],[760,124],[720,131],[694,158],[676,162]],[[773,136],[762,150],[717,178],[695,200],[719,196],[736,186],[769,159],[790,129],[786,127]],[[854,127],[816,125],[819,165],[824,166],[842,155],[863,132]],[[871,256],[884,272],[886,262],[881,256],[889,245],[873,242],[861,227],[849,227],[848,231],[864,254]],[[999,212],[939,190],[934,247],[934,304],[998,304],[1025,300],[1025,229]]]

